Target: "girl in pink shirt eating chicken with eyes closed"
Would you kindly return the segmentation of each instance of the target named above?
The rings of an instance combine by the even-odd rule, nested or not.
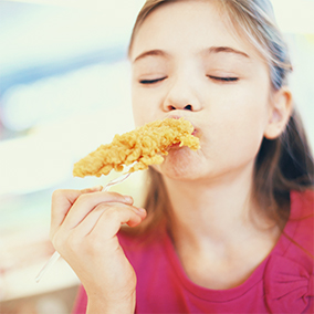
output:
[[[270,2],[148,0],[129,60],[136,125],[185,117],[201,149],[150,168],[145,209],[54,192],[75,313],[313,313],[313,158]]]

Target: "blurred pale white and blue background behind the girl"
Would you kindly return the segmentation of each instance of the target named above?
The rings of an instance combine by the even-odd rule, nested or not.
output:
[[[314,1],[273,0],[289,42],[291,87],[314,147]],[[48,236],[56,188],[73,164],[133,128],[127,44],[144,0],[0,1],[0,313],[70,313],[78,281]],[[143,174],[115,189],[140,203]]]

